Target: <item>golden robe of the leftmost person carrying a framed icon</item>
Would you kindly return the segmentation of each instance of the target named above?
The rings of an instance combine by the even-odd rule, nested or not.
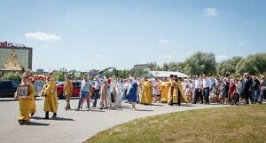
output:
[[[35,100],[35,88],[29,83],[27,89],[28,99],[20,99],[20,116],[19,119],[23,121],[29,121],[29,113],[32,107],[33,100]],[[17,92],[15,92],[15,98],[17,97]]]

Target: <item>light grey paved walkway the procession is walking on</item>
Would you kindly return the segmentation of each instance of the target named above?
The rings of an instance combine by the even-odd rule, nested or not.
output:
[[[72,107],[77,107],[77,99],[71,100]],[[84,104],[85,105],[85,104]],[[59,100],[58,118],[43,120],[43,99],[36,100],[37,113],[28,125],[19,125],[19,102],[0,99],[0,142],[2,143],[74,143],[82,142],[98,131],[114,125],[150,115],[160,115],[176,111],[223,107],[222,105],[197,105],[169,107],[156,104],[153,106],[137,105],[137,111],[123,103],[122,108],[99,110],[98,107],[88,111],[65,111],[65,100]],[[50,115],[51,116],[51,115]]]

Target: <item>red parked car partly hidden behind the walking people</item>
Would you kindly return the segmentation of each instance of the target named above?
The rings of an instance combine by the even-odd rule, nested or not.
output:
[[[73,84],[72,97],[78,97],[81,91],[81,82],[73,81],[72,84]],[[57,83],[57,92],[59,99],[65,99],[63,95],[63,88],[64,88],[64,83]]]

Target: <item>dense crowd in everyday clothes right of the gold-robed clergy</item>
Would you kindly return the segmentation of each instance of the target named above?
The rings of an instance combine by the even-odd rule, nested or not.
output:
[[[191,96],[192,103],[196,103],[199,98],[201,103],[204,101],[209,104],[212,102],[222,104],[249,104],[262,103],[266,98],[265,76],[248,75],[245,73],[241,77],[234,76],[215,76],[203,77],[195,76],[192,79],[183,81],[187,97]]]

